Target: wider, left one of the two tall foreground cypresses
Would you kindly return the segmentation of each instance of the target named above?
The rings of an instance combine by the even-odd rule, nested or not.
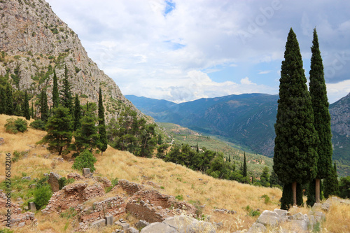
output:
[[[279,81],[274,171],[284,184],[292,184],[293,204],[297,204],[297,184],[307,183],[316,176],[318,137],[302,55],[291,28]]]

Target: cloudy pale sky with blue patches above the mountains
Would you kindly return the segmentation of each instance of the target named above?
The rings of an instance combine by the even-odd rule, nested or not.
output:
[[[350,92],[350,1],[46,1],[123,94],[278,94],[291,27],[307,78],[316,27],[330,104]]]

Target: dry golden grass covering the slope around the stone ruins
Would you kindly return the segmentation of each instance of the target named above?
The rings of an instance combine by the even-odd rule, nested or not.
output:
[[[0,160],[5,160],[5,153],[13,154],[14,150],[25,151],[27,156],[12,164],[12,178],[22,176],[25,173],[31,178],[41,177],[43,173],[55,171],[62,176],[66,176],[73,171],[73,162],[57,162],[57,154],[50,154],[43,146],[36,145],[45,132],[29,129],[25,133],[8,134],[3,125],[6,123],[6,115],[0,115],[0,137],[5,139],[5,144],[0,146]],[[160,189],[167,195],[182,195],[183,199],[190,202],[200,202],[205,204],[203,213],[211,215],[211,221],[223,222],[223,228],[218,232],[233,232],[236,230],[248,229],[258,218],[248,216],[246,206],[251,209],[279,208],[278,203],[281,198],[281,190],[277,188],[261,188],[252,185],[244,185],[235,181],[223,181],[211,178],[185,167],[163,162],[158,159],[146,159],[136,157],[130,153],[115,150],[109,147],[103,157],[97,155],[97,175],[106,176],[110,180],[118,177],[141,183],[145,176],[151,181],[164,187]],[[1,162],[0,181],[4,180],[5,167]],[[202,179],[202,181],[200,180]],[[13,192],[20,192],[13,190]],[[265,204],[262,195],[268,195],[270,202]],[[15,199],[12,200],[15,202]],[[225,208],[237,211],[236,215],[222,215],[211,210],[215,208]],[[307,213],[308,209],[300,211]],[[43,216],[40,211],[36,213],[38,227],[23,227],[15,232],[73,232],[71,221],[60,218],[56,214]],[[335,218],[337,221],[335,221]],[[342,232],[342,226],[346,226],[349,219],[349,209],[346,206],[332,206],[327,213],[327,223],[324,227],[330,232]],[[336,224],[335,224],[336,223]],[[66,230],[64,229],[66,227]],[[111,228],[106,228],[104,232],[111,232]],[[101,232],[101,231],[89,231]]]

